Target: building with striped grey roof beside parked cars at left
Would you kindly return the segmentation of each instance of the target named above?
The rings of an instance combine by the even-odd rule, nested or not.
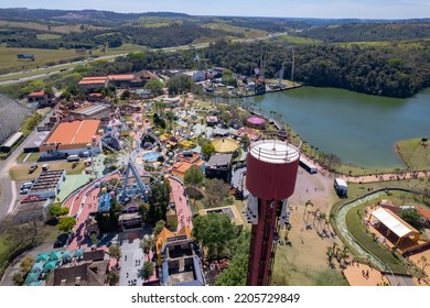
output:
[[[29,196],[43,198],[55,198],[66,179],[66,170],[46,170],[42,172],[35,179],[29,191]]]

